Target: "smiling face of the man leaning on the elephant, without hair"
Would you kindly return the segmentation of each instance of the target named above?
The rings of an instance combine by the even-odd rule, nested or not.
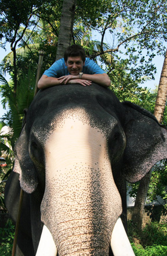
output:
[[[73,76],[77,76],[79,72],[82,72],[83,65],[85,62],[82,61],[81,56],[78,57],[68,57],[66,66],[68,69],[68,72],[72,74]]]

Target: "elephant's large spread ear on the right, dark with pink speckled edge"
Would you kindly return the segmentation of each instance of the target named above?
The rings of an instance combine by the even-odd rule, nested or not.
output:
[[[126,148],[122,174],[128,182],[137,182],[162,159],[167,158],[167,130],[146,109],[132,102],[125,108]]]

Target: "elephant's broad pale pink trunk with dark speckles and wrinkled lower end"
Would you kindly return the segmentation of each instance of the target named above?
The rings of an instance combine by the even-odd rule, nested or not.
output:
[[[41,219],[59,256],[108,256],[122,207],[104,134],[67,119],[46,141],[45,165]]]

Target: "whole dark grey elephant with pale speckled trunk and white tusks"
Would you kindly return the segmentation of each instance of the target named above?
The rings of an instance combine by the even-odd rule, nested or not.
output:
[[[14,147],[5,202],[17,256],[135,255],[126,236],[126,182],[167,158],[154,115],[98,84],[39,90]]]

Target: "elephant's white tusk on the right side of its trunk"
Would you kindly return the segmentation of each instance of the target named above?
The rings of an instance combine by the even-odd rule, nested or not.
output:
[[[114,256],[135,256],[120,217],[112,231],[111,248]]]

